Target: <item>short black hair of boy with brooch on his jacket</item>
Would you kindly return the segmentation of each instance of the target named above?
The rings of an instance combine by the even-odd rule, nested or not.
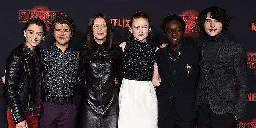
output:
[[[162,22],[162,29],[164,30],[165,32],[165,27],[166,27],[166,24],[172,20],[178,20],[180,21],[182,27],[183,27],[183,31],[185,31],[185,22],[183,21],[183,19],[179,16],[179,15],[176,15],[176,14],[172,14],[172,15],[168,15],[166,18],[164,18],[164,21]]]

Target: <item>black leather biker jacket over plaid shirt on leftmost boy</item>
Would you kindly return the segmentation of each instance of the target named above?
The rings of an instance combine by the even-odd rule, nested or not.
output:
[[[42,72],[42,56],[39,47],[38,51]],[[41,96],[42,100],[45,100],[46,91],[43,73],[41,74]],[[15,48],[7,58],[4,94],[7,105],[12,110],[15,124],[26,120],[24,111],[34,111],[36,68],[34,58],[28,54],[23,43]]]

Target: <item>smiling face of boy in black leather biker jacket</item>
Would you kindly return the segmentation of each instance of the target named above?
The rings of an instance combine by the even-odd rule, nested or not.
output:
[[[26,37],[26,45],[33,51],[45,37],[43,27],[36,24],[30,24],[27,30],[24,30],[24,36]]]

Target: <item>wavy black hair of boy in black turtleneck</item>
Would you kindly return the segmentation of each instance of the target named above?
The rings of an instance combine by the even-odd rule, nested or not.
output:
[[[228,24],[231,20],[231,17],[226,14],[226,11],[223,8],[220,7],[210,7],[202,10],[202,12],[198,16],[198,25],[200,27],[200,30],[206,34],[204,30],[204,22],[207,18],[207,14],[210,12],[210,17],[213,19],[218,20],[222,23],[222,32],[226,32],[228,30]]]

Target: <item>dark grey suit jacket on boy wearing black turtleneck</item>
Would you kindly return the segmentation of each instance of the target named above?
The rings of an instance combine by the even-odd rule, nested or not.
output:
[[[209,68],[206,68],[203,48],[206,39],[198,41],[200,50],[200,79],[196,92],[198,109],[202,94],[207,86],[210,108],[216,114],[233,113],[244,118],[246,113],[247,94],[249,89],[246,72],[247,53],[241,44],[225,36],[224,41]],[[236,86],[233,80],[236,78]]]

